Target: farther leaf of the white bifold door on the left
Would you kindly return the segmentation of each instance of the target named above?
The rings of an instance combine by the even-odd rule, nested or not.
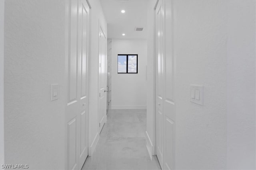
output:
[[[79,140],[79,170],[82,168],[86,157],[88,156],[88,90],[89,90],[89,74],[88,74],[88,59],[89,59],[89,43],[90,43],[90,8],[86,0],[81,1],[81,69],[80,69],[80,140]]]

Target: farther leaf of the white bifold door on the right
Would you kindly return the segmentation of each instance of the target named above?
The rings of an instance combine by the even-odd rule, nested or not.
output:
[[[156,155],[163,168],[163,47],[162,47],[162,1],[156,7]]]

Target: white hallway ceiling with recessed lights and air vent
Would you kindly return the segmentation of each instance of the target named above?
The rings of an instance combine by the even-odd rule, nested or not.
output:
[[[101,0],[103,12],[108,22],[108,38],[146,39],[147,0]],[[125,13],[121,13],[125,10]],[[135,31],[135,27],[144,27]],[[125,33],[125,36],[122,36]]]

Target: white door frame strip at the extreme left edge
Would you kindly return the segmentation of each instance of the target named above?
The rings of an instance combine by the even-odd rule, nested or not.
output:
[[[0,164],[2,165],[4,164],[4,0],[0,1],[0,37]]]

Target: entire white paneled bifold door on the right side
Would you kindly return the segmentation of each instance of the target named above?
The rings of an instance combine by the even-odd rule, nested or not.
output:
[[[156,154],[162,169],[174,169],[175,64],[172,0],[156,6]]]

